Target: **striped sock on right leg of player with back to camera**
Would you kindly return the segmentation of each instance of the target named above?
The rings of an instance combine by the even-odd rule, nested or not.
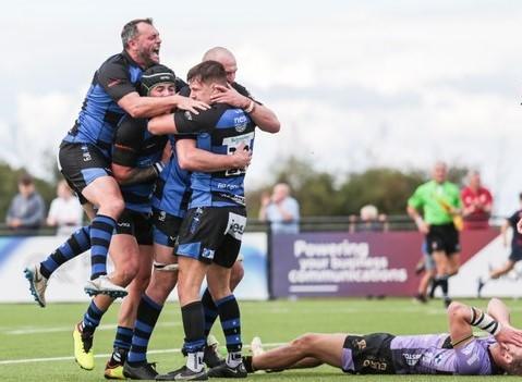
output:
[[[216,301],[218,307],[219,319],[221,320],[221,328],[223,330],[227,342],[227,365],[231,368],[238,367],[241,363],[241,321],[240,307],[234,295],[223,297]]]

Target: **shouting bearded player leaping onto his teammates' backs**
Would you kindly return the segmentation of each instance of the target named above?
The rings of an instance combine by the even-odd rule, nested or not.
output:
[[[123,51],[110,57],[96,71],[80,115],[60,145],[61,172],[76,192],[83,205],[89,201],[96,213],[86,207],[92,218],[89,227],[77,231],[64,246],[57,249],[54,263],[29,267],[26,276],[38,299],[39,289],[52,271],[69,258],[92,247],[92,275],[85,292],[122,297],[126,291],[107,276],[107,252],[124,209],[117,181],[110,171],[110,149],[113,133],[125,113],[132,118],[151,116],[178,108],[197,113],[206,109],[203,102],[187,97],[139,97],[136,84],[142,72],[159,62],[161,39],[151,19],[133,20],[121,33]],[[88,242],[88,244],[86,243]],[[85,248],[85,249],[84,249]],[[45,300],[39,300],[45,306]]]

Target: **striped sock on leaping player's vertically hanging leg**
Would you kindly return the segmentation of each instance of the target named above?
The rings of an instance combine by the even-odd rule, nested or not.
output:
[[[107,274],[107,254],[117,222],[97,214],[90,223],[90,280]]]

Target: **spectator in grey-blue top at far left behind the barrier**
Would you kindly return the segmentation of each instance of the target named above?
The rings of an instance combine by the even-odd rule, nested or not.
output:
[[[33,177],[23,174],[19,178],[19,194],[11,201],[7,223],[12,230],[38,230],[44,222],[46,206],[36,192]]]

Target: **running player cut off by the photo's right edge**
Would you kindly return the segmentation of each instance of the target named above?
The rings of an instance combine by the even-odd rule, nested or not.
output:
[[[503,263],[503,266],[490,270],[487,278],[478,279],[477,297],[481,297],[482,288],[489,280],[496,280],[509,273],[514,268],[514,264],[518,261],[522,260],[522,233],[517,230],[517,223],[522,218],[522,193],[519,195],[519,209],[514,211],[511,217],[506,219],[502,226],[500,227],[500,232],[502,233],[502,243],[505,247],[508,246],[508,230],[509,227],[513,230],[513,235],[511,237],[511,254],[509,255],[509,258]]]

